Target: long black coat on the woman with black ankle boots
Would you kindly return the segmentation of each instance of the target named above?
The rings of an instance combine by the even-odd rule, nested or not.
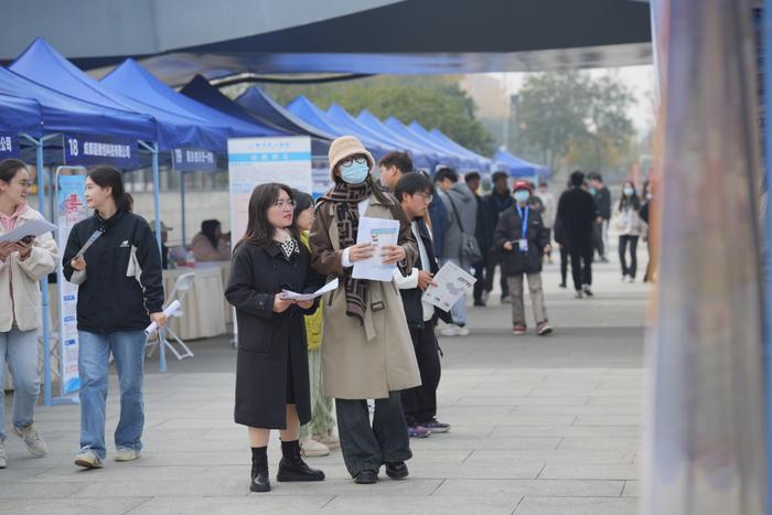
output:
[[[277,243],[260,247],[243,243],[232,258],[225,297],[236,308],[236,423],[286,429],[287,404],[298,410],[300,423],[311,420],[308,350],[303,310],[291,305],[274,312],[274,298],[282,289],[299,293],[318,290],[324,279],[310,266],[305,246],[287,259]]]

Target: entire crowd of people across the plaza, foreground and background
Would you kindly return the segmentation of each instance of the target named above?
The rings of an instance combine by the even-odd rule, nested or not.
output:
[[[470,329],[465,294],[448,311],[423,301],[423,291],[435,285],[443,265],[474,276],[471,294],[478,308],[491,302],[498,276],[498,300],[511,304],[517,336],[528,330],[526,285],[535,334],[554,331],[543,278],[554,244],[560,287],[568,287],[570,266],[577,298],[593,296],[592,265],[596,256],[608,261],[611,224],[619,234],[622,280],[637,277],[637,245],[648,232],[648,184],[642,199],[634,182],[625,181],[613,202],[599,173],[575,171],[566,190],[554,194],[544,178],[537,184],[511,183],[506,172],[495,172],[490,193],[483,193],[478,172],[461,176],[440,168],[429,176],[415,171],[405,152],[392,152],[376,164],[354,137],[333,141],[329,162],[334,186],[319,200],[283,184],[262,184],[251,194],[246,234],[233,251],[230,235],[218,221],[207,219],[184,256],[167,247],[172,228],[162,222],[159,249],[154,224],[132,213],[119,171],[89,171],[86,201],[94,214],[75,225],[62,254],[65,279],[78,286],[76,465],[98,469],[107,455],[110,355],[120,388],[115,460],[140,458],[143,329],[151,321],[165,324],[161,270],[190,254],[196,261],[232,262],[225,297],[235,308],[238,328],[234,418],[248,428],[253,492],[271,490],[267,449],[272,430],[281,439],[277,481],[323,481],[324,472],[310,468],[304,458],[341,449],[358,484],[378,481],[382,466],[393,480],[408,476],[410,438],[450,431],[438,419],[437,335],[468,336]],[[0,162],[0,234],[42,219],[26,205],[30,184],[23,162]],[[356,243],[363,216],[397,222],[396,244],[379,248],[384,264],[395,266],[390,282],[353,275],[356,262],[374,255],[372,245]],[[97,233],[100,237],[83,251]],[[56,268],[56,259],[51,234],[0,244],[0,356],[13,371],[12,431],[36,457],[47,451],[33,422],[37,281]],[[644,280],[654,277],[650,261]],[[321,299],[291,300],[281,293],[310,293],[333,279],[340,286]],[[0,384],[3,371],[0,366]],[[0,425],[0,468],[7,465],[3,430]]]

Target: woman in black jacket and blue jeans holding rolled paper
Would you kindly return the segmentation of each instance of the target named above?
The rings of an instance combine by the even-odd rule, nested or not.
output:
[[[65,279],[78,285],[81,451],[75,464],[98,469],[106,458],[110,353],[120,385],[115,460],[132,461],[142,450],[144,329],[151,322],[162,328],[167,316],[161,253],[148,223],[131,213],[133,199],[120,172],[106,165],[88,172],[86,203],[94,215],[75,224],[62,261]]]

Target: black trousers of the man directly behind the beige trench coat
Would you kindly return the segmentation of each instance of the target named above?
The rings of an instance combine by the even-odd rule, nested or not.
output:
[[[437,417],[437,387],[440,385],[442,369],[435,324],[425,322],[422,329],[411,328],[410,337],[421,373],[421,386],[403,391],[403,408],[407,425],[420,426]]]

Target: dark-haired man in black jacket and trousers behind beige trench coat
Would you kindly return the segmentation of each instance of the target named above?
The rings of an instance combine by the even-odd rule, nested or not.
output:
[[[432,196],[431,181],[420,173],[406,173],[397,182],[395,196],[411,221],[412,234],[418,244],[419,259],[408,277],[399,271],[394,279],[403,296],[407,325],[410,329],[416,361],[421,374],[421,386],[403,391],[403,409],[412,438],[428,437],[432,432],[448,432],[450,426],[437,420],[437,387],[440,384],[440,355],[435,326],[438,316],[451,322],[450,314],[421,300],[423,290],[432,285],[439,267],[435,257],[431,233],[423,222]]]

